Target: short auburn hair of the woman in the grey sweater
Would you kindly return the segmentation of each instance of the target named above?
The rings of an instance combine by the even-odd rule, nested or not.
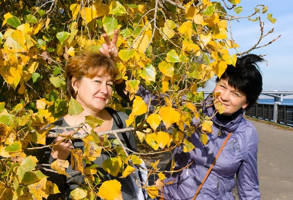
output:
[[[79,84],[83,77],[94,78],[99,71],[103,69],[103,74],[109,74],[113,81],[117,77],[119,71],[115,67],[115,62],[112,58],[95,52],[82,52],[69,58],[65,66],[66,73],[66,95],[68,98],[76,97],[76,92],[72,88],[73,84]],[[72,77],[74,82],[72,82]]]

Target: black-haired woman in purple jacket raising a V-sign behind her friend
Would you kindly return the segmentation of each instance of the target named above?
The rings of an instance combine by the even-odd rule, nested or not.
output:
[[[113,48],[115,44],[106,41],[107,45],[103,45],[100,52],[113,55],[117,51]],[[176,166],[173,170],[190,165],[179,172],[166,174],[164,183],[171,183],[163,187],[161,194],[165,200],[234,200],[231,190],[235,184],[235,174],[239,199],[260,199],[257,174],[258,136],[255,127],[243,117],[244,109],[256,103],[262,91],[262,75],[256,65],[260,61],[263,58],[258,55],[245,55],[237,59],[236,67],[228,65],[221,78],[217,78],[213,94],[220,94],[214,102],[209,96],[202,109],[206,116],[211,117],[217,109],[217,102],[220,102],[225,111],[211,118],[212,133],[206,134],[209,138],[206,145],[200,140],[202,131],[198,127],[194,134],[186,137],[195,146],[193,150],[184,152],[184,146],[174,149]],[[123,92],[121,95],[123,96]],[[151,97],[151,92],[142,87],[136,95],[145,100],[154,98]],[[151,103],[153,102],[157,101]],[[193,122],[197,121],[193,119]],[[215,162],[216,157],[218,158]],[[170,166],[171,162],[166,170]]]

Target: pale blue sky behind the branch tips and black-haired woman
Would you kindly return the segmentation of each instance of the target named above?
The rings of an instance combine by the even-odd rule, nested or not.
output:
[[[266,44],[273,38],[282,35],[269,46],[251,52],[256,55],[266,55],[264,58],[268,61],[268,66],[266,62],[259,65],[263,74],[263,91],[293,91],[293,0],[241,0],[239,6],[243,7],[243,11],[238,16],[251,15],[254,12],[253,8],[258,4],[268,6],[268,12],[260,15],[262,19],[267,18],[268,13],[272,13],[272,17],[277,19],[275,24],[265,20],[264,33],[272,28],[274,28],[274,32],[265,37],[260,44]],[[259,23],[248,19],[240,19],[240,22],[234,20],[232,33],[234,40],[241,47],[238,52],[244,52],[259,39]],[[228,35],[230,36],[230,34]],[[214,86],[212,79],[204,91],[211,91]]]

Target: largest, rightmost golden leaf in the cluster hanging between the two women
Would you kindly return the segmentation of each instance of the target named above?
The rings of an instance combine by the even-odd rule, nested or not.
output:
[[[180,114],[178,111],[171,107],[165,107],[160,109],[160,116],[163,120],[166,128],[168,129],[173,123],[179,121]]]

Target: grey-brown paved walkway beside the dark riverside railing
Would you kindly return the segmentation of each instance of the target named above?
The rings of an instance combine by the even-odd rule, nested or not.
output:
[[[256,121],[251,123],[259,137],[257,164],[261,200],[293,200],[293,131]],[[159,159],[159,166],[164,169],[170,156],[164,154]],[[233,194],[238,200],[236,187]]]

